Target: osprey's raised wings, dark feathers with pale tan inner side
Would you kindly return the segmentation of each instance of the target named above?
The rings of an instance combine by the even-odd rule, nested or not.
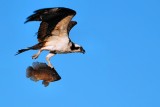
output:
[[[69,8],[45,8],[36,10],[34,14],[27,18],[25,23],[29,21],[41,21],[37,34],[37,39],[41,42],[46,37],[57,33],[57,31],[58,33],[60,30],[69,32],[76,23],[75,21],[71,21],[75,15],[76,12]]]

